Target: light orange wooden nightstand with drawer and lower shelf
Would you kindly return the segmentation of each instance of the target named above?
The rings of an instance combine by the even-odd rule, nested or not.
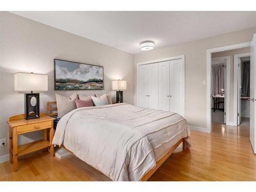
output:
[[[51,156],[54,156],[53,145],[51,144],[53,139],[53,120],[54,118],[47,116],[44,113],[41,113],[40,118],[37,119],[26,120],[24,114],[9,118],[10,163],[13,163],[14,172],[17,170],[19,156],[42,149],[47,150],[47,147],[50,147]],[[18,146],[18,135],[39,130],[44,130],[44,139]]]

